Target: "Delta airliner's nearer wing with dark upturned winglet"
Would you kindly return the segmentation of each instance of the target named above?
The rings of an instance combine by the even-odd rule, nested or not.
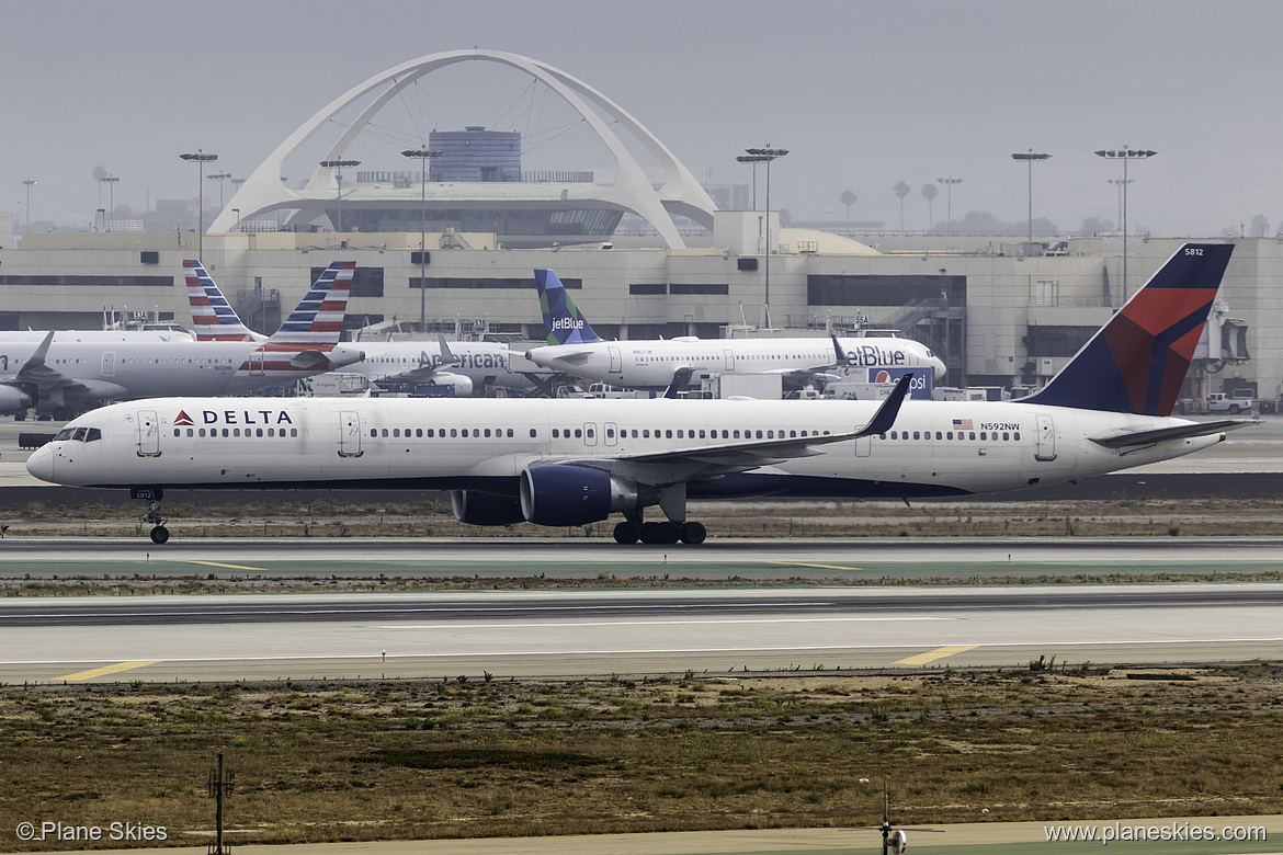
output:
[[[845,433],[821,436],[788,437],[779,440],[744,440],[722,445],[708,445],[698,449],[674,451],[647,451],[643,454],[621,454],[613,458],[584,458],[562,460],[584,467],[607,469],[612,474],[627,476],[645,483],[674,483],[716,478],[734,472],[748,472],[770,467],[793,458],[810,458],[820,454],[815,446],[831,442],[858,440],[874,433],[885,433],[896,422],[901,404],[908,395],[912,376],[905,374],[869,423]]]

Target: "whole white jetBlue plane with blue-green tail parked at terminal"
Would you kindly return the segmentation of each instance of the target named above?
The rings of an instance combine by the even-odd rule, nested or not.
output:
[[[804,385],[839,379],[839,368],[919,369],[935,379],[944,363],[912,338],[693,338],[603,341],[552,270],[535,270],[548,344],[526,358],[611,386],[667,390],[699,374],[780,374]]]

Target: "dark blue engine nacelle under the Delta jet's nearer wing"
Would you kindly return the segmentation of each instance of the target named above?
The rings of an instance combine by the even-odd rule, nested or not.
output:
[[[536,526],[584,526],[639,504],[638,486],[604,469],[547,465],[521,473],[521,513]]]

